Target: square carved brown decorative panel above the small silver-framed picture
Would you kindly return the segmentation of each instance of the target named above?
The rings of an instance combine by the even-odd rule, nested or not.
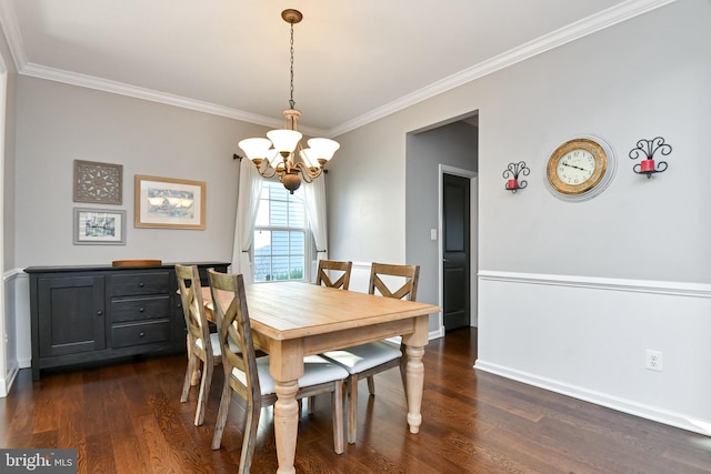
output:
[[[123,165],[74,160],[74,202],[121,204]]]

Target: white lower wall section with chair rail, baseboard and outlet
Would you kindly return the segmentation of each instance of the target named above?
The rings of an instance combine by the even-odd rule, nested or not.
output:
[[[709,284],[479,273],[475,369],[707,435],[710,334]]]

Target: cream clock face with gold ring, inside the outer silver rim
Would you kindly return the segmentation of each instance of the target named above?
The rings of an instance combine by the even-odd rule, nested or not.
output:
[[[608,158],[600,144],[589,139],[574,139],[551,154],[548,181],[558,193],[583,194],[600,184],[607,168]]]

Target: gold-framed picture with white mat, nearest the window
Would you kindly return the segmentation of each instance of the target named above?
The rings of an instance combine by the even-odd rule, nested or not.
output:
[[[136,226],[204,229],[204,182],[136,175]]]

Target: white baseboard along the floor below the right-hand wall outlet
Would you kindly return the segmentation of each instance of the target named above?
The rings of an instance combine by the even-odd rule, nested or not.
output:
[[[594,392],[584,387],[540,377],[534,374],[524,373],[510,367],[488,363],[481,360],[477,360],[477,362],[474,363],[474,369],[490,374],[500,375],[505,379],[511,379],[517,382],[522,382],[528,385],[533,385],[539,389],[571,396],[573,399],[582,400],[584,402],[590,402],[597,405],[605,406],[608,409],[617,410],[618,412],[628,413],[630,415],[640,416],[653,422],[663,423],[670,426],[675,426],[682,430],[703,434],[705,436],[711,436],[711,426],[709,426],[708,423],[703,423],[700,421],[698,423],[694,423],[694,420],[692,417],[684,416],[681,413],[672,413],[631,400],[610,396],[604,393]]]

